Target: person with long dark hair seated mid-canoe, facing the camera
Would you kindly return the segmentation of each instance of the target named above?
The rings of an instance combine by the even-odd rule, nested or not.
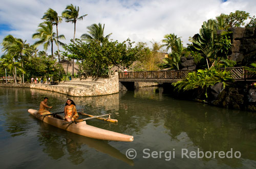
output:
[[[75,121],[79,117],[76,110],[76,104],[73,100],[67,100],[64,108],[64,113],[65,120],[67,120],[68,122]]]

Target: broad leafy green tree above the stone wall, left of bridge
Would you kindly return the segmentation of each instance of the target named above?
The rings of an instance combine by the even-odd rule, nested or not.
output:
[[[81,61],[80,67],[83,70],[90,69],[99,74],[112,66],[129,67],[136,61],[139,47],[132,47],[133,43],[130,39],[122,43],[108,41],[108,39],[104,39],[103,43],[95,40],[85,43],[76,39],[74,43],[65,47],[67,51],[65,55]]]

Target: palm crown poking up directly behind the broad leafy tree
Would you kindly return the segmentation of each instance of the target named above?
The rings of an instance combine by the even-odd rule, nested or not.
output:
[[[109,37],[112,35],[111,33],[104,37],[104,27],[105,27],[105,24],[103,24],[103,27],[102,27],[101,23],[98,23],[98,24],[94,23],[91,26],[87,26],[87,29],[89,30],[88,31],[89,34],[82,34],[81,39],[84,39],[87,41],[97,40],[102,43],[104,39],[109,39]]]

